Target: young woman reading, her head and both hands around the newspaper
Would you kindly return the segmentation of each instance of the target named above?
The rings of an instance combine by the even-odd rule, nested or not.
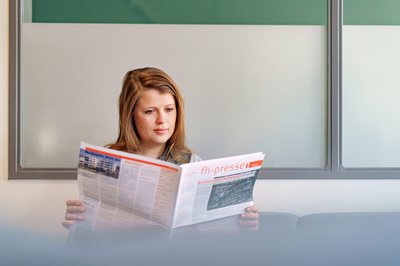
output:
[[[161,159],[175,164],[201,159],[185,146],[183,99],[178,86],[163,71],[145,67],[128,71],[119,95],[119,133],[107,147]],[[84,220],[79,200],[66,201],[65,221],[69,227]],[[240,225],[258,228],[258,206],[241,214]]]

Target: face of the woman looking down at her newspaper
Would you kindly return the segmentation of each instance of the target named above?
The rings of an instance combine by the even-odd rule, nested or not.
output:
[[[176,106],[170,93],[145,91],[133,110],[133,122],[144,148],[165,145],[175,129]]]

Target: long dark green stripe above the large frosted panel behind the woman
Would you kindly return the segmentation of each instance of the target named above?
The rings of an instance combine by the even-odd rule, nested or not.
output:
[[[32,0],[32,22],[326,25],[326,0]]]

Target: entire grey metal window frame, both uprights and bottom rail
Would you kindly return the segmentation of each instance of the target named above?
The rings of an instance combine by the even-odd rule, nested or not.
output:
[[[8,179],[76,179],[76,168],[23,168],[20,161],[21,0],[9,0]],[[262,168],[258,179],[397,179],[400,168],[345,168],[341,150],[342,0],[327,0],[327,154],[324,168]]]

